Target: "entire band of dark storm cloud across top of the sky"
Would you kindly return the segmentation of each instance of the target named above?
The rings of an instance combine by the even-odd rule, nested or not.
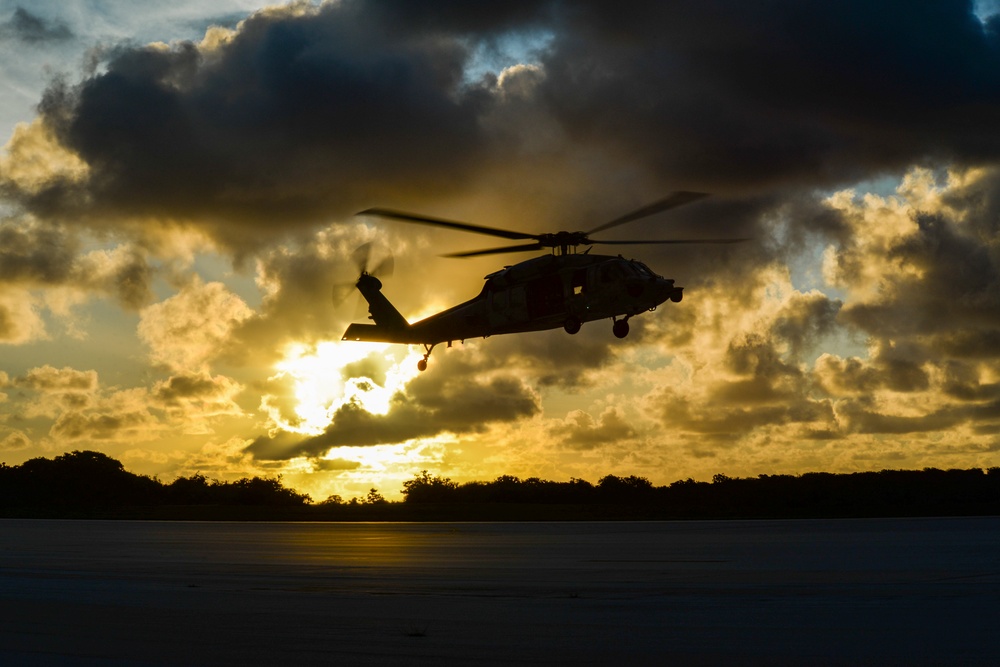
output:
[[[89,177],[13,194],[42,214],[195,220],[245,246],[259,238],[237,223],[283,231],[440,198],[497,170],[516,184],[586,150],[645,182],[742,194],[929,156],[989,160],[1000,40],[972,8],[354,0],[270,11],[218,47],[121,47],[78,85],[54,84],[40,111]],[[496,81],[466,80],[476,48],[525,31],[551,39],[516,104]],[[621,180],[605,175],[572,206],[620,198]]]

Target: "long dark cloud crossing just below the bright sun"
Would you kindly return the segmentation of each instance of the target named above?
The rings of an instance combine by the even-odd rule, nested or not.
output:
[[[406,393],[392,398],[384,416],[349,403],[337,410],[322,435],[306,439],[287,433],[262,436],[247,449],[259,460],[316,456],[331,447],[398,443],[446,432],[481,432],[491,423],[515,421],[538,411],[538,397],[511,376],[477,381],[424,375],[412,382]]]

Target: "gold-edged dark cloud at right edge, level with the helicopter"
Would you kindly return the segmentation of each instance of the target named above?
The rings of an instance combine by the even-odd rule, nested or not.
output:
[[[956,174],[938,185],[916,170],[895,196],[831,199],[854,231],[849,245],[825,258],[831,282],[856,295],[844,321],[884,341],[883,350],[889,340],[905,341],[909,356],[1000,354],[984,345],[1000,332],[1000,256],[983,235],[996,222],[982,198],[969,198],[977,181],[992,179],[980,172],[968,183]],[[964,206],[953,208],[952,199]]]

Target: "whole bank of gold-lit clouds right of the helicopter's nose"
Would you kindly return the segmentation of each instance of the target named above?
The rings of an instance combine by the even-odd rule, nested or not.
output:
[[[738,296],[723,284],[700,294],[678,309],[688,337],[667,348],[688,370],[649,394],[650,414],[694,447],[744,455],[789,438],[851,451],[871,446],[861,436],[941,432],[987,446],[1000,370],[992,178],[914,169],[895,195],[829,198],[824,287],[838,296],[792,288],[777,264],[746,275]]]

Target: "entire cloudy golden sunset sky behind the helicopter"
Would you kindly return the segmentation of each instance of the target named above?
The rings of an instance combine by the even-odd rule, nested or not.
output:
[[[653,483],[1000,465],[1000,6],[0,0],[0,460],[322,500],[421,470]],[[357,216],[592,229],[631,321],[341,342],[525,255]],[[599,252],[598,250],[595,250]]]

